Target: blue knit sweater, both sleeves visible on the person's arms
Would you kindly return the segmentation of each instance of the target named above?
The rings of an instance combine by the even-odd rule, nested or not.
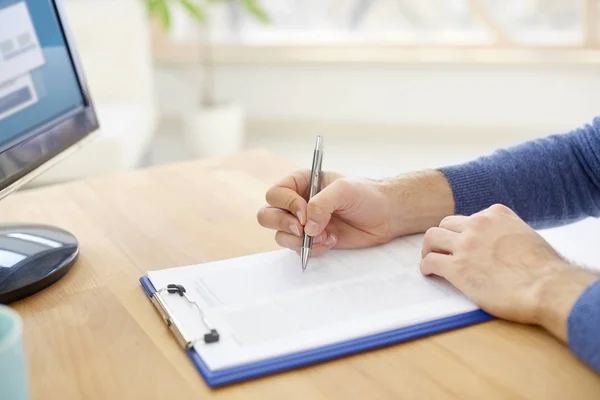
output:
[[[572,132],[498,150],[442,168],[456,214],[495,203],[513,209],[534,228],[600,216],[600,117]],[[577,300],[567,322],[568,345],[600,373],[600,281]]]

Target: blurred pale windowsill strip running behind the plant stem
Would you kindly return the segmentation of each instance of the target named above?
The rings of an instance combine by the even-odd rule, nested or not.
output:
[[[202,47],[194,43],[155,41],[153,50],[161,65],[197,63],[202,54]],[[217,64],[600,64],[600,47],[591,46],[218,43],[212,54]]]

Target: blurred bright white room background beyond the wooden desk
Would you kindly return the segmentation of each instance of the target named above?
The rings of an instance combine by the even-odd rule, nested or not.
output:
[[[381,177],[600,115],[598,0],[64,0],[102,125],[35,184],[268,149]]]

